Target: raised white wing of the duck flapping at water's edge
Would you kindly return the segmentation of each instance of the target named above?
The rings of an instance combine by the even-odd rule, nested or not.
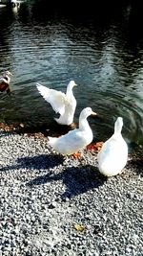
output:
[[[67,104],[67,97],[65,93],[50,89],[39,83],[36,84],[36,87],[43,98],[51,104],[53,110],[56,113],[63,115],[65,112],[65,105]]]

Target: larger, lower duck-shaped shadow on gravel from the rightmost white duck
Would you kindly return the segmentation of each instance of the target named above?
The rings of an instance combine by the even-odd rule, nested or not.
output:
[[[27,186],[35,186],[45,184],[47,182],[63,180],[66,185],[66,191],[61,198],[72,198],[76,195],[83,194],[94,188],[102,186],[107,178],[100,175],[96,167],[90,165],[81,167],[71,167],[63,171],[63,173],[53,175],[42,175],[38,176],[27,183]]]

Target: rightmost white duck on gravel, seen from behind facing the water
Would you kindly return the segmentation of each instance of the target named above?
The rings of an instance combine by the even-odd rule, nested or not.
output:
[[[98,152],[98,168],[103,175],[118,175],[126,166],[128,146],[121,134],[122,127],[123,118],[118,117],[114,123],[112,137],[103,144],[101,151]]]

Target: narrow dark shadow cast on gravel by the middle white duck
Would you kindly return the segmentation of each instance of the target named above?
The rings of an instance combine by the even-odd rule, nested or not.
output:
[[[27,168],[27,169],[50,169],[63,164],[64,157],[57,154],[41,154],[37,156],[26,156],[17,159],[17,164],[0,168],[0,172]]]

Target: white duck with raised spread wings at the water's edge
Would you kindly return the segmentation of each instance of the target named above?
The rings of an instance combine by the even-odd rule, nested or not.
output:
[[[59,118],[54,118],[54,120],[60,125],[72,125],[76,107],[76,100],[73,96],[72,88],[75,85],[77,84],[74,81],[70,81],[65,94],[61,91],[50,89],[39,83],[36,84],[37,89],[43,98],[51,104],[56,113],[60,114]]]

